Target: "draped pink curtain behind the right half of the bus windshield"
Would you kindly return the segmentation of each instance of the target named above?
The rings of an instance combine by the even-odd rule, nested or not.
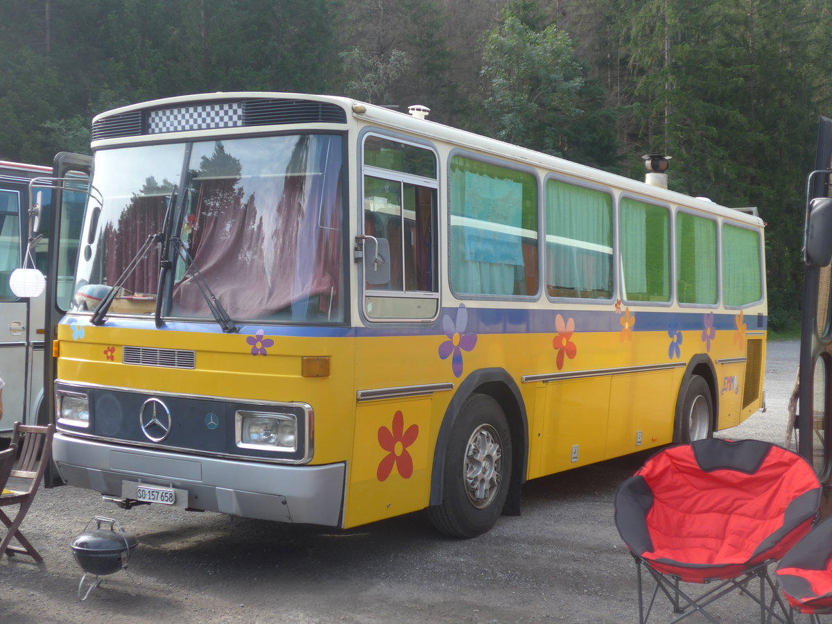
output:
[[[310,141],[324,141],[324,149],[310,155]],[[190,252],[230,316],[263,318],[293,303],[305,315],[318,295],[319,312],[337,307],[340,168],[339,141],[301,137],[289,166],[296,172],[260,178],[258,191],[246,191],[243,178],[202,182]],[[176,284],[173,304],[175,315],[210,314],[190,272]]]

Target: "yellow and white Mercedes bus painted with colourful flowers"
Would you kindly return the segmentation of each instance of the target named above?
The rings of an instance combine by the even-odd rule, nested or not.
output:
[[[343,528],[428,508],[472,537],[527,479],[760,409],[759,218],[420,108],[95,117],[54,346],[66,483]]]

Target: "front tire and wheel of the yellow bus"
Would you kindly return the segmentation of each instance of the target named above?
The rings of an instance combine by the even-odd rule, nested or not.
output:
[[[444,457],[442,503],[428,509],[451,537],[476,537],[503,513],[512,476],[512,438],[503,409],[472,394],[453,423]]]

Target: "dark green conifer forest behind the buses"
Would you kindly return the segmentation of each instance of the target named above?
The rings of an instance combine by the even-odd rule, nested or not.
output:
[[[196,92],[329,93],[756,206],[770,328],[799,324],[805,179],[832,115],[828,0],[0,0],[0,159]]]

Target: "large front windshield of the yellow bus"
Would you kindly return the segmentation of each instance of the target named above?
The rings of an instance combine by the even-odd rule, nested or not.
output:
[[[342,322],[340,136],[261,136],[97,152],[76,310]],[[171,241],[172,270],[162,272]],[[135,268],[125,274],[132,263]],[[125,275],[122,275],[125,274]]]

